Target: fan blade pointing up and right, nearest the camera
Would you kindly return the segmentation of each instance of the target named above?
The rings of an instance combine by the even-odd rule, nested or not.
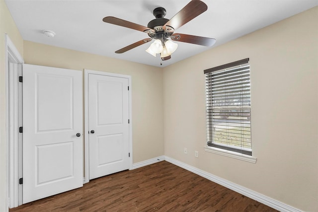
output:
[[[177,28],[186,24],[196,16],[205,12],[207,9],[208,6],[203,1],[191,0],[168,22],[164,24],[163,29],[166,29],[166,26],[171,26],[174,30],[176,30]]]

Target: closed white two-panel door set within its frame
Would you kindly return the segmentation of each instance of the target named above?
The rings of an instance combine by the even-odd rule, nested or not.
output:
[[[88,74],[89,179],[129,168],[128,78]]]

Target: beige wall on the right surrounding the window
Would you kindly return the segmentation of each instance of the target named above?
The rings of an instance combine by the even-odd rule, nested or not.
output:
[[[295,208],[318,211],[317,20],[315,7],[164,68],[165,155]],[[203,148],[203,70],[244,58],[250,59],[256,164]]]

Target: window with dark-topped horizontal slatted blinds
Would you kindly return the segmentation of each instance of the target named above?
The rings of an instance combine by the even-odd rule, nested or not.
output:
[[[205,70],[207,144],[252,155],[249,59]]]

